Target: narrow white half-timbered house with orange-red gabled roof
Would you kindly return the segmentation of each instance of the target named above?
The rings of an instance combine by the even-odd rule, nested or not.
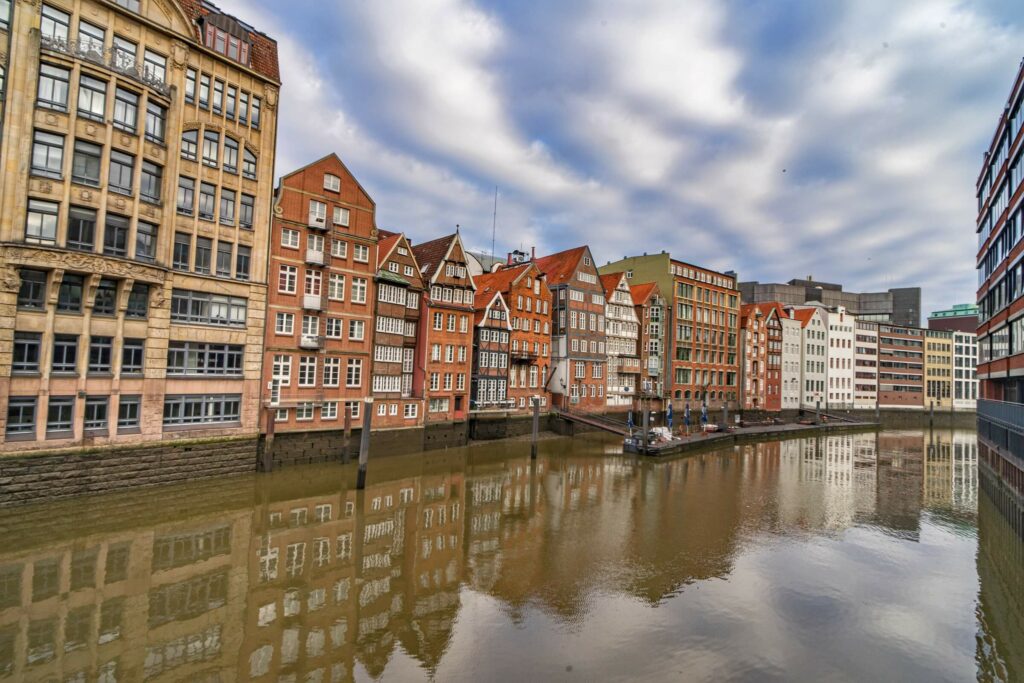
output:
[[[631,408],[639,394],[640,323],[625,272],[601,275],[604,288],[604,330],[607,340],[608,408]]]

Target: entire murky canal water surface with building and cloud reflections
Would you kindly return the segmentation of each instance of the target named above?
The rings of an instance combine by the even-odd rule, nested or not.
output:
[[[0,681],[1021,681],[977,452],[583,436],[6,509]]]

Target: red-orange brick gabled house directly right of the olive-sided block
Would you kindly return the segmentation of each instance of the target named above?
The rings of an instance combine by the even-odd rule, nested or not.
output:
[[[782,324],[777,303],[739,309],[740,389],[746,410],[782,410]]]

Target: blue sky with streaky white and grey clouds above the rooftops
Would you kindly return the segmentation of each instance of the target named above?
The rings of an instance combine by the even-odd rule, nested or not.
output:
[[[217,0],[279,42],[276,175],[378,226],[974,301],[1019,0]],[[495,193],[498,211],[495,221]]]

